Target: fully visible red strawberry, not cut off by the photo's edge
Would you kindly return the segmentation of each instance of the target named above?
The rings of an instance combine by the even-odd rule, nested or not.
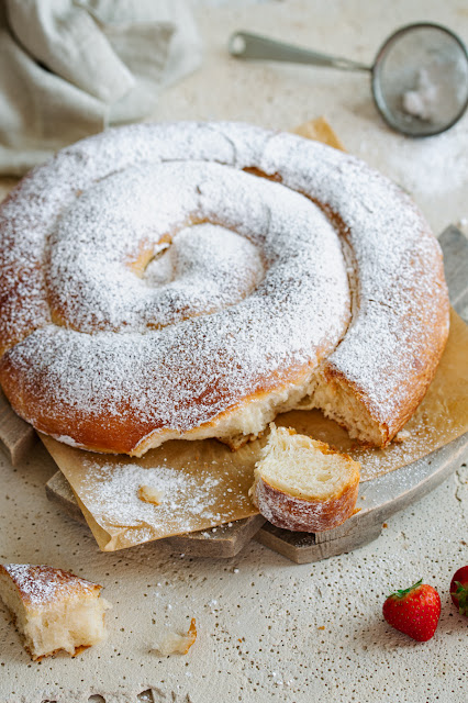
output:
[[[417,641],[427,641],[437,628],[441,598],[432,585],[417,581],[388,596],[383,603],[383,617],[401,633]]]

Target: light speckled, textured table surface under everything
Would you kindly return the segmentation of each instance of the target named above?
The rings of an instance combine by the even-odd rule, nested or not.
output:
[[[349,152],[413,193],[437,232],[466,224],[468,115],[439,137],[411,142],[377,116],[366,76],[245,64],[225,52],[229,34],[248,29],[367,62],[393,29],[416,20],[442,22],[468,41],[466,1],[238,2],[197,12],[204,66],[164,94],[157,119],[287,129],[325,114]],[[1,703],[86,702],[91,694],[133,702],[148,689],[156,702],[467,701],[468,621],[448,596],[452,573],[468,562],[465,464],[392,517],[377,543],[298,566],[256,543],[223,561],[155,545],[101,554],[86,527],[47,503],[44,484],[55,467],[40,445],[15,469],[0,461],[0,560],[69,569],[104,584],[114,604],[105,644],[42,663],[30,661],[1,606]],[[423,645],[381,617],[389,589],[420,577],[442,596],[437,633]],[[199,637],[187,657],[149,651],[166,624],[183,629],[192,616]]]

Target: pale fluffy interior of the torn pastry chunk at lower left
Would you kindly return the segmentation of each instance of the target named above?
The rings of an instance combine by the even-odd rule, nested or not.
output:
[[[9,576],[0,574],[0,595],[13,614],[24,645],[33,659],[65,649],[70,655],[96,645],[105,637],[104,612],[111,604],[94,592],[79,593],[77,598],[55,599],[34,606],[21,598]]]

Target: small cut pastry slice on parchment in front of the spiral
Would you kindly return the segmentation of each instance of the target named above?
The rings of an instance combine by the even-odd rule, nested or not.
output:
[[[296,532],[337,527],[354,513],[360,465],[324,442],[270,425],[250,495],[270,523]]]

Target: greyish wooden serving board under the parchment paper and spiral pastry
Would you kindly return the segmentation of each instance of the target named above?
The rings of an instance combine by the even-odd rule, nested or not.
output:
[[[439,242],[444,250],[450,301],[467,320],[468,241],[456,227],[449,226]],[[24,440],[21,439],[21,425],[24,425]],[[11,432],[9,427],[12,427]],[[13,462],[21,460],[31,446],[30,426],[12,413],[4,398],[0,398],[0,439]],[[317,534],[293,533],[275,527],[257,515],[233,523],[232,526],[169,537],[163,542],[187,555],[233,557],[255,536],[261,544],[298,563],[319,561],[376,539],[386,520],[442,483],[466,454],[468,434],[409,466],[363,483],[357,505],[359,512],[336,529]],[[83,522],[71,489],[60,471],[48,481],[46,490],[52,501]]]

